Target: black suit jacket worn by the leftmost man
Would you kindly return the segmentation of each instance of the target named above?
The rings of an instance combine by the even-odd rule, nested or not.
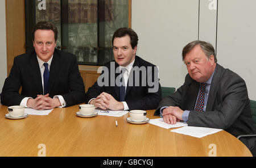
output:
[[[22,92],[19,94],[20,86]],[[19,105],[23,98],[43,94],[42,77],[35,51],[14,58],[13,68],[3,85],[1,103]],[[62,95],[67,106],[84,102],[84,82],[76,56],[55,49],[49,70],[49,96]]]

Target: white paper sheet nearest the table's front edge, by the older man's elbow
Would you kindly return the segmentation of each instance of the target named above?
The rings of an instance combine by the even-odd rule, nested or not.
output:
[[[217,128],[186,126],[186,127],[171,130],[171,132],[176,132],[176,133],[181,133],[183,135],[189,135],[189,136],[201,138],[201,137],[211,135],[213,133],[216,133],[216,132],[219,132],[222,130],[223,129],[217,129]]]

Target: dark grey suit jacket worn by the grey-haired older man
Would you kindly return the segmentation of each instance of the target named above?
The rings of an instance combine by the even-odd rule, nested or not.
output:
[[[194,81],[187,74],[183,86],[161,100],[155,115],[159,115],[159,110],[163,106],[178,106],[181,110],[190,111],[189,126],[225,129],[234,136],[256,133],[247,87],[239,75],[217,64],[205,112],[193,110],[199,85],[199,82]],[[255,138],[250,138],[249,141],[241,139],[241,141],[250,149]]]

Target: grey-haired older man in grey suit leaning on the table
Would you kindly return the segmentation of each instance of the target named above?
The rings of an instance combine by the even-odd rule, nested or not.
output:
[[[225,129],[234,136],[254,134],[245,81],[217,64],[214,48],[205,41],[192,41],[183,48],[188,74],[184,84],[161,100],[155,115],[175,124]],[[255,137],[241,141],[255,156]]]

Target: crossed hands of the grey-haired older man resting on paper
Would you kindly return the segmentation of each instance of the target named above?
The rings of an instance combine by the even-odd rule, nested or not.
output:
[[[183,110],[179,107],[169,106],[163,110],[163,120],[167,124],[176,124],[182,120]]]

